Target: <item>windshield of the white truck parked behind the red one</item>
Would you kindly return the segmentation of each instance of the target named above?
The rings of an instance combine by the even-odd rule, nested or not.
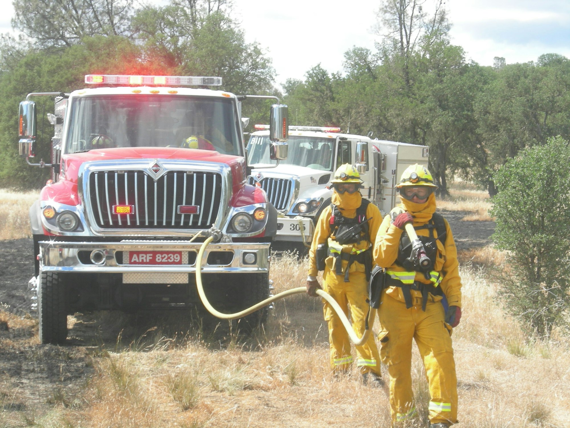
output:
[[[332,171],[336,138],[290,135],[288,156],[279,164],[298,165],[312,169]],[[275,164],[269,157],[271,141],[268,136],[252,135],[247,143],[249,165]]]

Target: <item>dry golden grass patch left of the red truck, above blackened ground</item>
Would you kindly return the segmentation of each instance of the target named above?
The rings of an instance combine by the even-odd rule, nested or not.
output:
[[[11,192],[0,189],[0,239],[31,237],[28,211],[38,192]]]

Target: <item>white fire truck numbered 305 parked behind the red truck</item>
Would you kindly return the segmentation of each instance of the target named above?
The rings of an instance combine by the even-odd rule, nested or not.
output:
[[[275,240],[288,243],[310,243],[316,220],[331,203],[328,184],[340,165],[357,166],[361,193],[386,213],[397,203],[397,177],[409,165],[427,164],[429,155],[426,146],[341,134],[340,128],[290,126],[287,159],[275,162],[269,126],[255,130],[247,144],[249,183],[267,192],[278,211]]]

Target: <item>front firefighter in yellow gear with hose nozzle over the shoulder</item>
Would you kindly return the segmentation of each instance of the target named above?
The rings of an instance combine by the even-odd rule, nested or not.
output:
[[[457,377],[451,330],[461,318],[461,278],[457,248],[449,223],[435,213],[437,186],[427,168],[412,165],[396,185],[404,212],[384,217],[376,242],[374,263],[385,268],[378,318],[380,355],[390,375],[392,426],[406,426],[416,417],[412,392],[412,338],[424,361],[429,383],[432,428],[457,422]],[[406,223],[412,223],[431,263],[418,264]],[[418,244],[418,243],[416,243]],[[417,247],[416,247],[417,248]],[[376,278],[376,277],[375,277]],[[444,309],[445,295],[449,308]]]

